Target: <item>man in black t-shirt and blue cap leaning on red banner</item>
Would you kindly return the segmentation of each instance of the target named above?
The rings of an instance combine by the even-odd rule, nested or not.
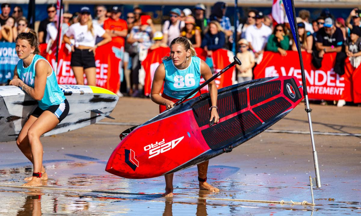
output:
[[[340,28],[335,26],[332,18],[325,19],[323,28],[317,32],[315,42],[319,58],[323,58],[325,53],[337,53],[334,71],[339,75],[343,75],[345,73],[344,59],[346,58],[346,54],[342,52],[343,33]]]

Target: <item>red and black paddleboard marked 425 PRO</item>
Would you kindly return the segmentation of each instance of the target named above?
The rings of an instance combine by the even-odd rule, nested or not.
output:
[[[218,90],[219,123],[209,126],[209,94],[164,111],[114,149],[106,171],[129,179],[170,174],[230,152],[286,116],[303,99],[294,76],[268,77]]]

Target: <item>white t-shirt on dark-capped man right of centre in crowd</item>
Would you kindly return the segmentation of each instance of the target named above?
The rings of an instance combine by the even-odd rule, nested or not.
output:
[[[246,30],[245,37],[246,40],[251,43],[252,48],[256,52],[259,52],[264,48],[271,33],[271,28],[262,23],[261,28],[257,28],[256,25],[249,26]]]

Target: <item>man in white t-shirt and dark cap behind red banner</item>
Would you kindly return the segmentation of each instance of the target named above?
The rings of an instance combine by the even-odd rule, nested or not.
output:
[[[249,42],[249,47],[255,53],[256,63],[259,64],[265,51],[265,46],[268,37],[271,35],[272,30],[270,27],[263,24],[264,15],[262,12],[257,12],[256,23],[249,26],[245,33],[245,39]]]

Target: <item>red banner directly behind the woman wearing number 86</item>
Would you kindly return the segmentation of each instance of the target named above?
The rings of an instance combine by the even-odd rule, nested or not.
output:
[[[202,48],[195,48],[197,56],[205,60],[207,57],[207,52]],[[145,81],[144,81],[144,94],[148,96],[151,93],[151,85],[154,77],[154,73],[162,62],[162,58],[168,56],[170,53],[169,48],[157,48],[154,50],[148,50],[147,58],[144,59],[142,65],[145,70]],[[233,62],[233,53],[229,50],[218,49],[213,51],[212,60],[213,60],[213,69],[214,73],[218,73],[223,68],[228,66],[231,62]],[[217,84],[217,88],[223,88],[229,85],[232,85],[232,80],[235,79],[235,67],[231,69],[231,71],[223,73],[221,76],[217,77],[215,82]],[[201,78],[200,83],[202,84],[204,79]],[[201,92],[207,92],[208,86],[203,87]]]

